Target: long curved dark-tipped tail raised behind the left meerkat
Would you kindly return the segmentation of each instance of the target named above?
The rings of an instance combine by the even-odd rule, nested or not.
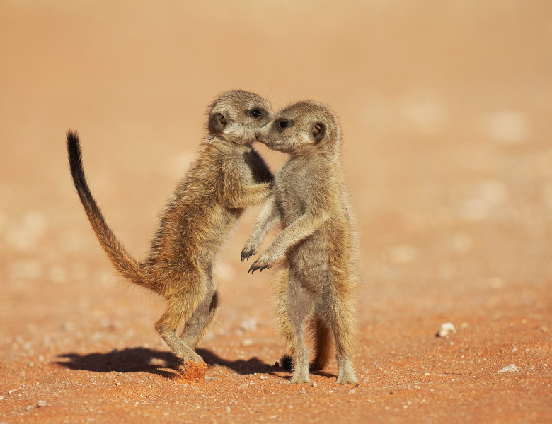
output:
[[[96,237],[98,237],[100,245],[103,247],[103,251],[108,255],[115,269],[123,277],[127,278],[128,281],[142,287],[149,287],[146,278],[144,278],[142,266],[115,237],[115,234],[113,234],[113,231],[105,222],[96,199],[94,199],[90,192],[86,177],[84,176],[81,145],[79,143],[79,134],[76,131],[67,131],[67,153],[69,154],[69,167],[71,167],[71,175],[73,176],[76,192],[81,198],[86,216],[88,216],[88,220],[96,233]]]

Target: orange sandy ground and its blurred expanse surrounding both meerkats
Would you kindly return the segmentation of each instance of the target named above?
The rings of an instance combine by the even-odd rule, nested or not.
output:
[[[0,4],[0,423],[552,422],[552,4],[196,3]],[[115,275],[84,217],[68,128],[141,257],[229,88],[340,114],[358,387],[335,361],[316,384],[275,366],[275,272],[239,261],[259,207],[219,257],[207,381],[178,377],[163,301]]]

